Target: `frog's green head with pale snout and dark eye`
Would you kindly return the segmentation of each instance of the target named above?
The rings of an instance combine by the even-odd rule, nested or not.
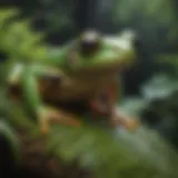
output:
[[[102,36],[96,31],[83,32],[73,43],[68,65],[73,71],[111,71],[132,63],[135,36],[123,31],[117,36]]]

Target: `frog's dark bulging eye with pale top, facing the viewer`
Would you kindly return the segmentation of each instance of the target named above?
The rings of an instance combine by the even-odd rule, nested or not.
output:
[[[79,48],[82,55],[91,55],[96,52],[101,42],[101,37],[97,31],[87,31],[83,32],[80,41]]]

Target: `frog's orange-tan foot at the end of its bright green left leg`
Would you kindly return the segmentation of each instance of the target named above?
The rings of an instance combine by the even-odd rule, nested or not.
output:
[[[39,121],[40,132],[43,135],[49,134],[50,123],[68,125],[72,127],[79,127],[81,125],[76,116],[55,108],[44,109],[40,115]]]

